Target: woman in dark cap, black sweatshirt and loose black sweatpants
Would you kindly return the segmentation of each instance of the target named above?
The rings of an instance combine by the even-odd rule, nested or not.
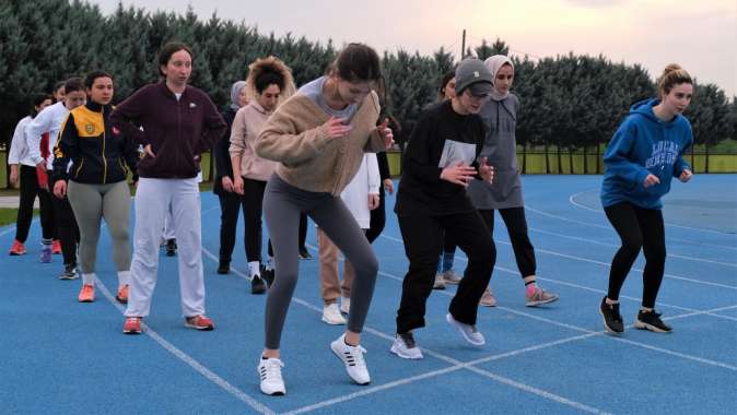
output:
[[[486,343],[476,330],[477,306],[491,278],[496,249],[466,188],[471,180],[493,178],[486,159],[477,161],[486,137],[478,112],[489,99],[491,81],[480,60],[461,61],[456,69],[456,97],[425,110],[407,146],[395,212],[410,264],[391,345],[391,352],[402,358],[422,358],[412,330],[424,327],[425,301],[444,234],[468,256],[446,320],[467,342]]]

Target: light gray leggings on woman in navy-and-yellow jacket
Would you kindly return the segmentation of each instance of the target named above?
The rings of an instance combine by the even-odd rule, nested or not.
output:
[[[100,224],[104,217],[113,239],[113,257],[118,271],[130,270],[130,189],[126,181],[87,185],[69,180],[69,203],[80,228],[80,266],[83,274],[95,272]]]

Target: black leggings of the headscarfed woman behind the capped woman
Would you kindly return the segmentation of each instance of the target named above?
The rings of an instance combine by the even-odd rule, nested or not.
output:
[[[483,223],[487,224],[491,235],[494,235],[494,211],[483,210],[479,211]],[[527,220],[525,218],[525,208],[508,208],[500,209],[499,213],[502,215],[506,233],[510,235],[512,242],[512,250],[514,251],[514,259],[517,262],[519,275],[524,278],[526,276],[535,275],[537,265],[535,263],[535,248],[527,236]]]

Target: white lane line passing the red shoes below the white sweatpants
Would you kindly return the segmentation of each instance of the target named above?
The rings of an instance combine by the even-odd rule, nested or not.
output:
[[[105,298],[107,298],[115,308],[120,311],[122,315],[125,312],[125,308],[118,304],[118,301],[115,299],[113,294],[107,289],[105,284],[97,277],[95,277],[95,285],[103,293]],[[184,353],[179,348],[177,348],[174,344],[169,343],[166,341],[164,337],[162,337],[159,333],[156,333],[153,329],[151,329],[150,325],[147,325],[145,323],[141,322],[141,328],[144,330],[143,333],[151,339],[153,339],[154,342],[159,343],[160,346],[162,346],[166,352],[173,354],[175,357],[177,357],[179,360],[184,361],[187,364],[189,367],[195,369],[198,374],[203,376],[206,379],[209,381],[213,382],[214,384],[219,386],[222,390],[225,392],[230,393],[231,395],[235,396],[237,400],[241,402],[245,403],[246,405],[250,406],[254,411],[265,414],[265,415],[276,415],[276,412],[269,408],[268,406],[264,405],[262,403],[256,401],[253,399],[250,395],[248,395],[246,392],[242,391],[241,389],[234,387],[233,384],[229,383],[225,379],[221,378],[218,376],[215,372],[212,370],[208,369],[204,367],[202,364],[197,361],[194,357],[189,356],[188,354]],[[122,335],[122,334],[120,334]]]

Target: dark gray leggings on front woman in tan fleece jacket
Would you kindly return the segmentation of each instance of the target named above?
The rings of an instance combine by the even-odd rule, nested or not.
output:
[[[266,300],[266,347],[271,349],[279,348],[286,310],[296,286],[301,212],[315,221],[355,269],[348,330],[361,333],[374,295],[378,262],[343,201],[330,193],[299,189],[274,174],[264,194],[264,213],[276,261],[274,282]]]

